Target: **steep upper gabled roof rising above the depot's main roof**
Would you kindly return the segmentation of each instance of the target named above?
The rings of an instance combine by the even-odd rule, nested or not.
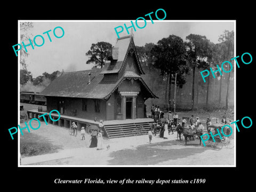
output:
[[[105,63],[101,74],[118,73],[124,66],[124,62],[130,50],[133,50],[140,73],[145,74],[141,68],[132,36],[124,36],[117,39],[117,42],[111,51],[111,61]]]

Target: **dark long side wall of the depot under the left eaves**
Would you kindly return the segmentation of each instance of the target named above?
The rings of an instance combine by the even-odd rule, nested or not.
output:
[[[62,97],[47,97],[47,111],[52,109],[57,109],[61,113],[60,102],[64,101],[64,113],[63,115],[74,116],[79,118],[85,118],[93,120],[95,117],[97,119],[106,120],[106,101],[100,101],[100,112],[95,112],[95,102],[94,99],[87,100],[86,111],[82,110],[82,98],[62,98]],[[96,100],[96,99],[95,99]]]

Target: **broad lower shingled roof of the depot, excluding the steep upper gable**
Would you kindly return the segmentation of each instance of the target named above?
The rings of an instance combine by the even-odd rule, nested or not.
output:
[[[104,75],[100,74],[102,69],[83,70],[70,73],[64,73],[48,85],[42,92],[42,95],[53,97],[71,97],[71,98],[91,98],[108,99],[118,86],[125,79],[139,79],[152,98],[157,96],[151,92],[141,76],[132,71],[126,71],[118,80],[104,81]],[[91,74],[91,83],[89,84],[89,73]]]

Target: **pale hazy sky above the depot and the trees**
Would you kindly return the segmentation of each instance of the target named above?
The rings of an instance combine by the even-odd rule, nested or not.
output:
[[[29,21],[29,20],[26,20]],[[31,38],[36,35],[44,37],[44,44],[40,47],[35,46],[34,50],[31,46],[27,46],[28,57],[26,58],[27,68],[31,71],[33,78],[42,75],[45,71],[53,73],[53,71],[62,69],[65,72],[87,70],[94,65],[86,64],[89,59],[85,55],[90,50],[92,43],[108,42],[113,46],[116,43],[117,35],[114,28],[118,26],[131,26],[130,20],[109,20],[109,21],[32,21],[33,28],[27,31],[31,34]],[[135,21],[133,21],[135,23]],[[139,20],[139,26],[145,25],[144,21]],[[61,38],[56,38],[53,35],[55,27],[62,27],[65,34]],[[139,29],[134,24],[136,31],[133,29],[134,43],[137,46],[143,46],[146,43],[157,44],[159,40],[169,35],[177,35],[186,40],[189,34],[204,35],[213,43],[219,43],[218,38],[223,34],[224,30],[234,30],[234,21],[170,21],[170,20],[154,20],[151,23],[147,20],[146,27]],[[49,35],[52,42],[49,41],[45,31],[51,30]],[[117,29],[119,30],[119,28]],[[131,28],[129,29],[131,31]],[[55,30],[58,36],[62,32],[59,28]],[[23,33],[22,31],[20,33]],[[128,35],[125,28],[120,37]],[[42,44],[40,37],[36,38],[37,44]],[[20,42],[21,44],[21,42]],[[26,44],[26,43],[25,43]]]

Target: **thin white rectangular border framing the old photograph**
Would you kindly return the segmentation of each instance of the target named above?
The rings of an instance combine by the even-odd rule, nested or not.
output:
[[[18,20],[20,22],[130,22],[135,20]],[[143,22],[143,20],[138,20]],[[151,20],[146,20],[151,22]],[[234,22],[234,57],[236,57],[236,20],[153,20],[154,22]],[[20,52],[20,51],[19,51]],[[18,122],[20,122],[20,54],[18,52]],[[231,58],[230,58],[231,59]],[[235,62],[235,61],[234,61]],[[235,66],[235,65],[234,65]],[[236,119],[236,67],[234,70],[234,121]],[[236,129],[234,131],[234,165],[20,165],[20,133],[18,131],[18,167],[236,167]],[[225,159],[223,159],[225,161]]]

